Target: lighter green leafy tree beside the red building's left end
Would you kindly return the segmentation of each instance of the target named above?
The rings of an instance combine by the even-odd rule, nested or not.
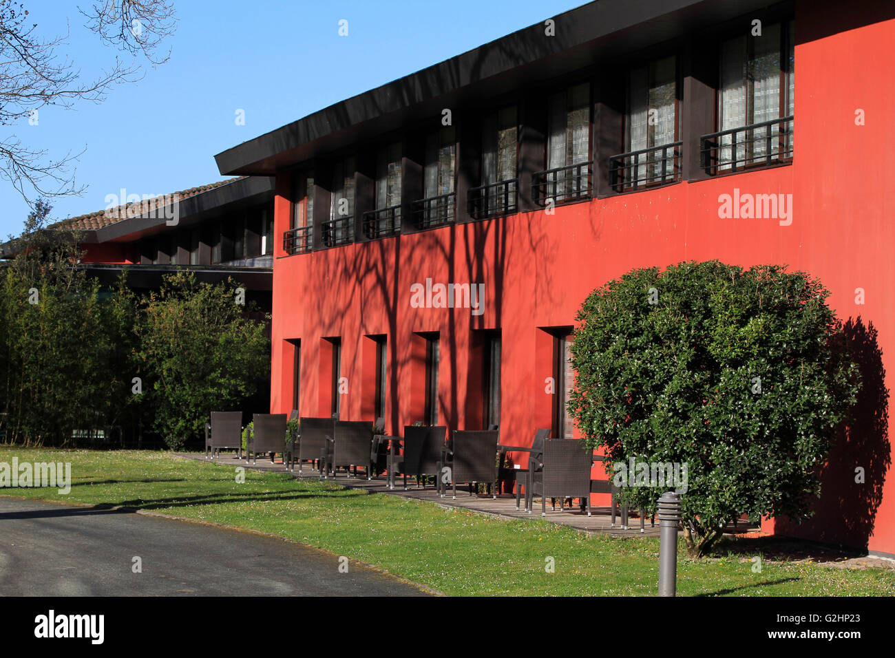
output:
[[[264,323],[246,317],[236,284],[197,284],[190,273],[166,278],[141,304],[138,363],[170,449],[197,436],[212,411],[251,396],[268,372]]]

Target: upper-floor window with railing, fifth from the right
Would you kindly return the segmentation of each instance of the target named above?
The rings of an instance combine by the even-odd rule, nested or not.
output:
[[[426,138],[422,201],[414,207],[417,226],[430,228],[454,220],[454,175],[456,137],[453,126],[432,132]]]

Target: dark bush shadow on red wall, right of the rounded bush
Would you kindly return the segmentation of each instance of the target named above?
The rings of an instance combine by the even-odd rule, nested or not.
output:
[[[851,421],[839,432],[823,466],[821,497],[811,506],[814,517],[802,524],[780,518],[775,530],[866,549],[891,466],[889,389],[873,323],[865,326],[860,317],[849,318],[843,330],[848,353],[857,363],[862,380]],[[863,469],[863,483],[859,482],[859,468]]]

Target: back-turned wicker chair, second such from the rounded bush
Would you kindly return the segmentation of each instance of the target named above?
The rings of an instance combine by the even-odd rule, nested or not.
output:
[[[454,431],[454,439],[442,451],[438,465],[449,469],[447,478],[439,477],[438,483],[442,498],[447,495],[447,483],[454,490],[456,500],[456,483],[488,483],[493,485],[492,497],[498,497],[498,430],[479,430],[472,432]],[[470,489],[472,494],[472,489]]]

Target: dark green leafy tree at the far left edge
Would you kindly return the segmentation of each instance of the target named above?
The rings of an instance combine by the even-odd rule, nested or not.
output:
[[[0,411],[12,440],[65,445],[131,408],[133,300],[78,267],[76,235],[47,230],[38,200],[0,277]]]

